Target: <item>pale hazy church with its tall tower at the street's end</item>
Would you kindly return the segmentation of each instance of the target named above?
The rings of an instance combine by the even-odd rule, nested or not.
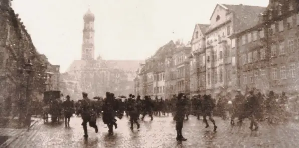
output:
[[[83,16],[83,41],[81,59],[74,60],[67,71],[61,74],[61,91],[74,100],[81,99],[81,93],[90,97],[104,96],[107,91],[115,95],[134,92],[135,71],[142,61],[96,59],[94,46],[94,14],[88,10]]]

